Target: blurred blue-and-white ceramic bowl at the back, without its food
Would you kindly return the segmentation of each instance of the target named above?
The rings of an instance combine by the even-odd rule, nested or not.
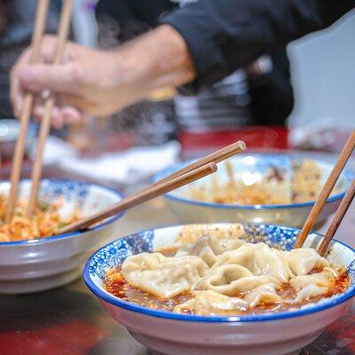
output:
[[[290,178],[292,174],[292,163],[300,159],[292,158],[288,155],[280,154],[240,154],[231,158],[235,175],[239,177],[250,177],[259,180],[265,172],[272,167],[283,170],[285,177]],[[327,162],[314,160],[321,170],[321,185],[327,179],[333,165]],[[188,162],[164,170],[154,177],[154,180],[165,177],[171,172],[180,169]],[[218,181],[227,181],[225,164],[219,163],[217,170]],[[209,185],[211,177],[204,177],[191,185],[185,185],[175,191],[164,195],[165,201],[177,216],[179,223],[211,223],[211,222],[244,222],[244,223],[264,223],[272,225],[288,225],[301,228],[308,217],[314,201],[304,203],[290,203],[281,205],[227,205],[222,203],[209,203],[192,200],[189,198],[188,189],[191,186]],[[327,204],[320,213],[317,227],[323,225],[327,217],[335,212],[339,206],[344,193],[351,184],[352,174],[343,172],[335,188],[337,193],[333,193]]]

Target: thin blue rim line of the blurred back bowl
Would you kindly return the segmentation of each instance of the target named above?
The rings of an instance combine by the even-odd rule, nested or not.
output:
[[[252,153],[252,154],[247,154],[247,153],[242,153],[239,155],[234,156],[234,158],[239,158],[241,156],[268,156],[268,157],[288,157],[289,159],[307,159],[307,158],[293,158],[292,156],[289,156],[288,154],[270,154],[270,153]],[[233,159],[233,157],[232,157]],[[164,175],[173,172],[174,170],[178,169],[179,167],[182,167],[190,162],[194,162],[195,159],[190,159],[185,162],[180,162],[172,167],[162,170],[160,173],[154,175],[153,181],[156,181],[158,178],[163,177]],[[321,162],[323,164],[331,166],[329,162],[322,161],[320,159],[312,159],[314,162]],[[352,180],[352,178],[355,176],[350,170],[343,170],[343,177],[346,179],[346,183],[349,183]],[[349,186],[346,186],[345,190],[343,190],[340,193],[335,193],[332,196],[327,198],[327,203],[337,201],[340,199],[343,199],[343,196],[345,195],[346,191],[348,190]],[[170,193],[165,193],[163,197],[167,200],[171,201],[177,201],[180,203],[186,203],[190,204],[193,206],[200,206],[200,207],[208,207],[212,209],[300,209],[300,208],[305,208],[305,207],[312,207],[315,203],[315,200],[313,201],[305,201],[305,202],[298,202],[298,203],[287,203],[287,204],[274,204],[274,205],[239,205],[239,204],[228,204],[228,203],[216,203],[216,202],[203,202],[203,201],[196,201],[193,199],[189,199],[186,197],[180,197],[174,194],[173,192]]]

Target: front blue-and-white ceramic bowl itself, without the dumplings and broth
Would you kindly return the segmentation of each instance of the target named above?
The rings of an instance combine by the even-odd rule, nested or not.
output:
[[[193,316],[129,304],[106,292],[103,279],[107,270],[120,266],[127,256],[178,246],[177,237],[183,227],[164,227],[113,241],[91,256],[83,271],[86,285],[99,297],[106,311],[154,354],[296,355],[339,318],[355,296],[355,250],[340,241],[332,242],[327,259],[347,267],[351,287],[341,295],[296,311],[241,317]],[[212,224],[201,226],[201,230],[230,230],[230,227],[231,224]],[[283,249],[291,248],[299,233],[276,225],[244,225],[244,228],[248,241],[266,241]],[[319,234],[312,233],[304,246],[316,247],[320,239]]]

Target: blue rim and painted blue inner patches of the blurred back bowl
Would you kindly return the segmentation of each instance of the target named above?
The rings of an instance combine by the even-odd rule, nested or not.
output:
[[[285,166],[285,158],[287,158],[286,155],[277,155],[277,154],[253,154],[253,155],[254,156],[263,156],[263,159],[271,159],[272,162],[280,161],[279,165],[281,167]],[[239,156],[242,156],[242,154]],[[157,181],[158,179],[171,174],[172,172],[176,171],[177,169],[185,166],[186,164],[188,164],[190,162],[193,162],[193,161],[182,162],[182,163],[178,164],[177,166],[174,166],[168,170],[162,171],[161,173],[154,176],[153,181]],[[258,166],[258,169],[264,170],[265,166],[266,166],[265,164],[263,164],[260,167]],[[354,174],[352,174],[351,171],[349,171],[349,170],[344,170],[342,173],[342,176],[344,178],[345,190],[341,193],[335,193],[332,196],[328,197],[327,203],[343,199],[343,196],[345,195],[346,190],[351,185],[351,181],[354,178]],[[174,194],[174,192],[165,193],[164,198],[166,198],[168,200],[172,200],[172,201],[187,203],[187,204],[194,205],[194,206],[209,207],[209,208],[213,208],[213,209],[299,209],[299,208],[304,208],[304,207],[312,207],[315,203],[315,201],[306,201],[306,202],[300,202],[300,203],[288,203],[288,204],[280,204],[280,205],[276,205],[276,204],[275,205],[224,204],[224,203],[196,201],[196,200],[192,200],[189,198],[177,196]]]

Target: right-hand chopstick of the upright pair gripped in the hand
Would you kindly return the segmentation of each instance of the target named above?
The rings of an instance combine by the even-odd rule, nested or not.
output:
[[[59,64],[63,57],[63,51],[67,43],[69,33],[70,19],[72,14],[74,0],[64,0],[60,13],[59,34],[57,39],[57,47],[54,54],[53,64]],[[31,217],[36,208],[38,188],[42,176],[43,150],[51,128],[51,111],[54,106],[53,93],[44,101],[44,114],[41,122],[41,130],[36,148],[36,158],[32,168],[31,180],[32,187],[28,201],[27,217]]]

